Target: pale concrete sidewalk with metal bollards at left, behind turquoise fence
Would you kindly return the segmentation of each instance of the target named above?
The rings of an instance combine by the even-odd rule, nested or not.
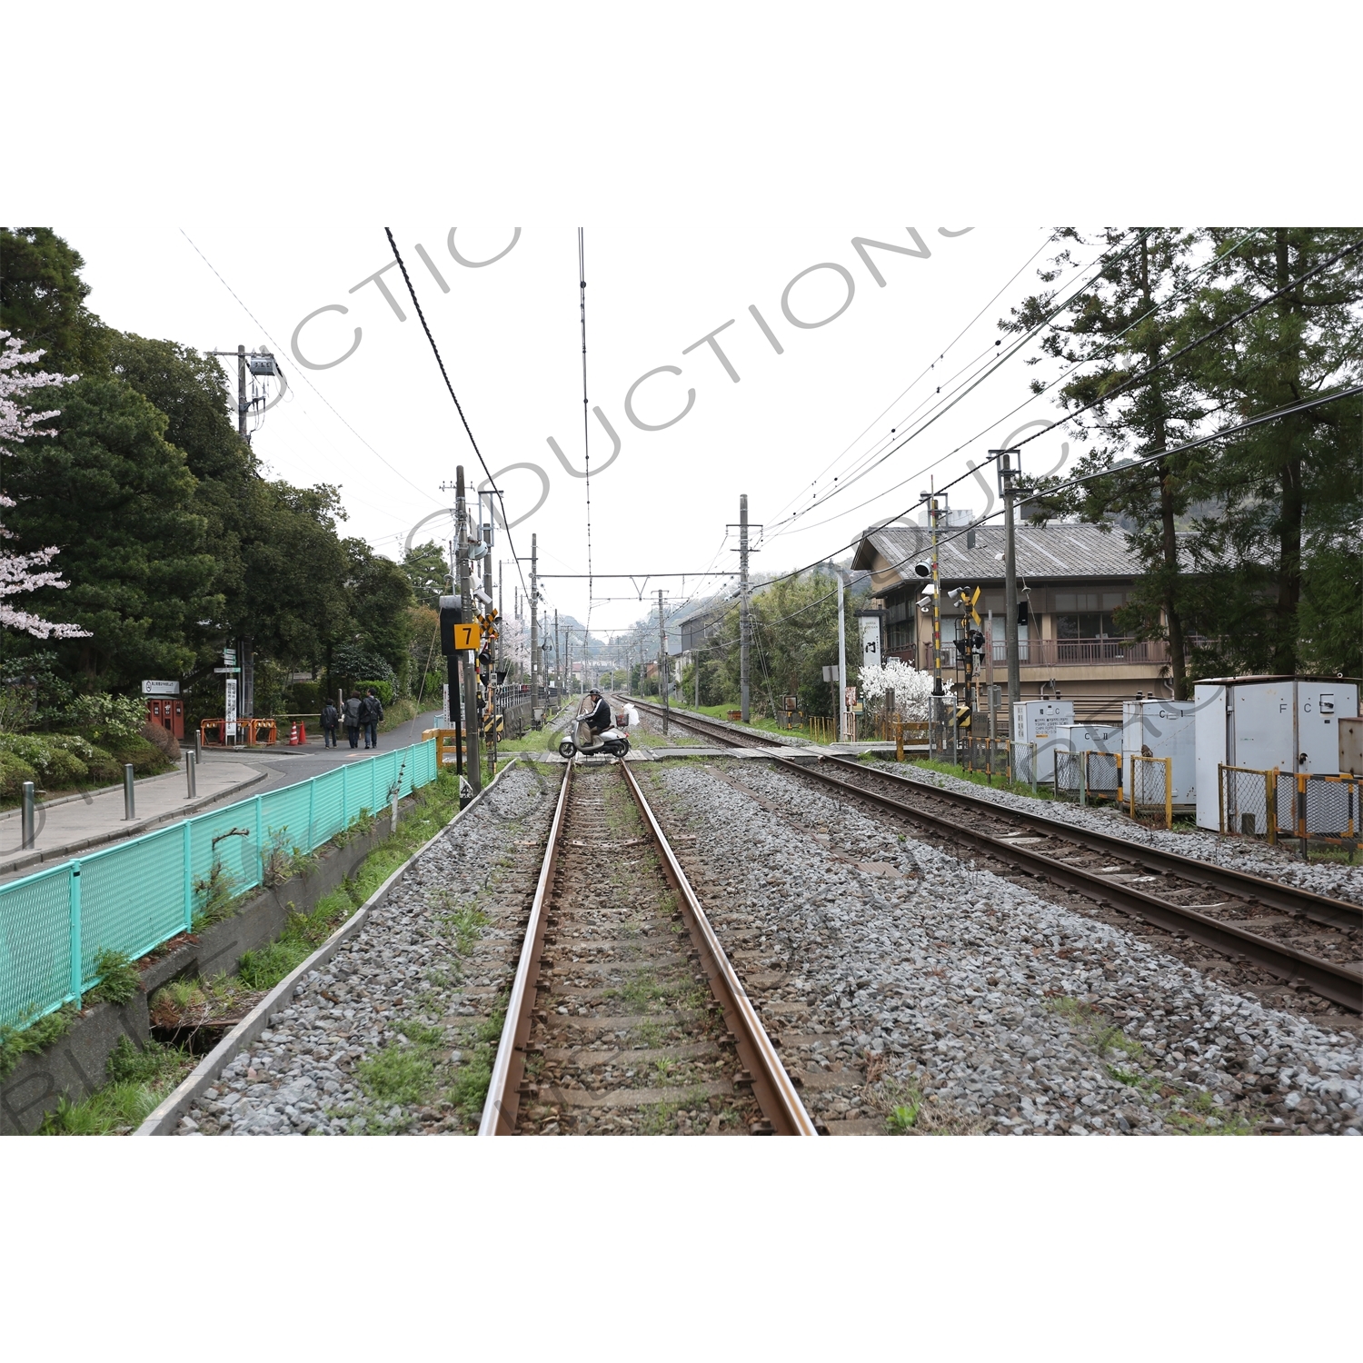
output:
[[[22,846],[18,810],[0,814],[0,880],[29,875],[42,864],[60,861],[106,842],[136,837],[172,819],[183,819],[222,800],[245,795],[266,773],[244,762],[200,762],[198,795],[185,799],[184,767],[135,782],[138,816],[123,816],[123,786],[86,795],[59,796],[37,808],[37,838]]]

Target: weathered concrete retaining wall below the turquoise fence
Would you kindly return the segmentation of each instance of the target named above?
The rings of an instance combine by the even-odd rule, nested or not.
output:
[[[398,816],[413,801],[398,806]],[[150,1036],[147,995],[181,976],[232,975],[237,962],[266,942],[273,942],[289,919],[290,906],[307,913],[330,894],[388,836],[388,821],[345,846],[327,845],[318,853],[318,867],[281,885],[262,890],[224,923],[198,935],[142,970],[142,992],[123,1005],[97,1003],[83,1013],[60,1041],[25,1055],[0,1082],[0,1135],[31,1135],[57,1101],[79,1101],[105,1084],[105,1063],[120,1036],[140,1048]]]

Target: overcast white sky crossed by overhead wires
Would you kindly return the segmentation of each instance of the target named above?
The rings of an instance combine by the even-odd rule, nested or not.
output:
[[[256,450],[279,477],[339,484],[349,530],[382,552],[401,553],[413,526],[450,506],[440,484],[453,481],[457,463],[470,476],[477,468],[398,271],[382,278],[405,322],[373,284],[350,293],[391,262],[382,224],[277,229],[269,239],[213,222],[183,230],[169,224],[56,226],[86,256],[90,305],[113,326],[200,349],[278,346],[290,391],[267,414]],[[451,256],[448,222],[391,226],[489,468],[542,470],[542,477],[530,468],[499,477],[508,512],[521,521],[512,526],[517,549],[527,555],[536,532],[542,571],[586,572],[586,485],[548,444],[555,438],[582,469],[575,228],[525,226],[499,260],[470,269]],[[958,233],[962,225],[945,228]],[[726,525],[737,521],[740,492],[748,493],[751,519],[771,527],[754,567],[793,568],[840,551],[868,522],[916,500],[928,470],[940,484],[1024,421],[1054,418],[1045,398],[1009,416],[1028,402],[1026,382],[1035,376],[1020,354],[855,488],[830,497],[834,478],[845,481],[860,457],[885,453],[891,428],[908,428],[910,413],[930,414],[962,371],[991,358],[998,318],[1036,286],[1036,267],[1048,255],[1043,228],[946,236],[924,222],[917,233],[927,258],[867,248],[882,286],[853,237],[917,251],[902,225],[586,229],[589,395],[620,438],[619,457],[602,469],[613,443],[593,416],[593,461],[601,469],[592,480],[594,571],[634,574],[639,587],[647,574],[732,571],[736,538]],[[512,228],[461,228],[454,241],[461,256],[478,260],[496,256],[512,237]],[[804,322],[844,304],[845,311],[825,326],[793,326],[782,309],[786,285],[811,266],[830,264],[846,277],[815,270],[791,289],[786,304]],[[297,341],[301,354],[334,360],[350,349],[356,327],[361,341],[341,364],[308,371],[290,353],[294,330],[326,304],[349,311],[308,323]],[[731,320],[716,339],[737,383],[709,345],[683,353]],[[641,421],[665,423],[692,388],[695,399],[675,425],[643,431],[630,421],[624,398],[660,365],[682,373],[664,372],[639,387],[632,406]],[[1060,457],[1060,438],[1045,436],[1030,448],[1048,468]],[[983,508],[984,495],[972,481],[953,504]],[[793,522],[792,512],[799,512]],[[442,538],[447,527],[448,518],[438,518],[418,540]],[[510,556],[504,538],[499,556]],[[658,586],[688,596],[702,583],[658,579],[649,590]],[[585,582],[551,579],[547,590],[552,604],[585,619]],[[597,585],[594,627],[624,626],[638,613],[628,583]]]

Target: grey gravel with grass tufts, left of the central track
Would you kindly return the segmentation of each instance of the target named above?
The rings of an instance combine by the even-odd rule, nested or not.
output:
[[[517,763],[408,870],[177,1135],[477,1130],[559,771]]]

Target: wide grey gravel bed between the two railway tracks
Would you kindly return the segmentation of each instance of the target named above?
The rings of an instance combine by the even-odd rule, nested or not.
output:
[[[791,773],[737,767],[662,763],[650,786],[669,831],[696,836],[688,875],[725,949],[748,960],[740,975],[784,1033],[788,1067],[863,1070],[860,1097],[831,1107],[806,1085],[816,1119],[878,1112],[880,1130],[889,1118],[908,1131],[998,1134],[1359,1134],[1363,1048],[1352,1033],[1268,1009]],[[740,950],[754,943],[756,962]]]

